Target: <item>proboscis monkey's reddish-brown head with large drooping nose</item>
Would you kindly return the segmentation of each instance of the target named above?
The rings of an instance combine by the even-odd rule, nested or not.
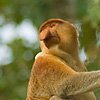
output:
[[[41,49],[45,46],[51,49],[54,46],[64,52],[71,52],[78,48],[78,34],[71,23],[61,19],[50,19],[39,30]]]

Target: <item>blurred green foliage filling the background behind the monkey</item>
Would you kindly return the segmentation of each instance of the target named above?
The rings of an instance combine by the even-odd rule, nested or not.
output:
[[[18,26],[25,19],[37,29],[50,18],[70,21],[80,33],[79,50],[85,50],[88,70],[100,70],[100,0],[1,0],[0,17],[0,27],[8,23]],[[37,43],[27,47],[22,39],[0,42],[13,53],[13,61],[0,67],[0,100],[25,100],[32,64],[40,47],[34,48]],[[95,94],[100,100],[100,89]]]

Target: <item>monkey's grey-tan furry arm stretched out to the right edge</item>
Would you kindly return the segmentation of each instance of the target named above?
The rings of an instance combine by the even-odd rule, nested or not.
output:
[[[69,79],[66,78],[64,84],[67,95],[93,91],[100,88],[100,71],[77,72]]]

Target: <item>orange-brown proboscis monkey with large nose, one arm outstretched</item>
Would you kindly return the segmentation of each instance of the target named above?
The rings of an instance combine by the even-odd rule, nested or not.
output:
[[[100,70],[87,72],[78,55],[78,34],[61,19],[45,22],[39,30],[42,52],[35,57],[26,100],[96,100]]]

